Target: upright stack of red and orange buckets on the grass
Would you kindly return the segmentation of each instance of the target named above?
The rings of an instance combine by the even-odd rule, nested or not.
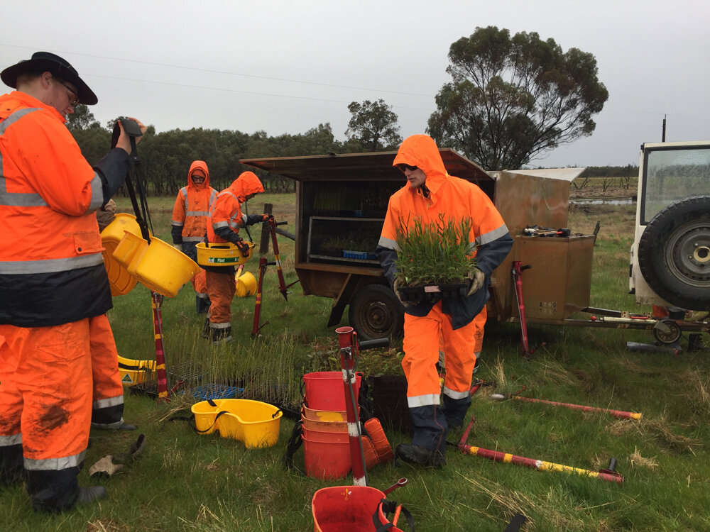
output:
[[[356,373],[355,378],[353,392],[357,405],[362,374]],[[303,375],[303,384],[301,421],[306,475],[321,480],[345,477],[352,462],[343,373],[307,373]]]

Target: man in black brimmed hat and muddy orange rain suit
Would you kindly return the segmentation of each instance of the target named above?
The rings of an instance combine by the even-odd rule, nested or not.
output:
[[[77,483],[89,321],[111,308],[94,211],[124,183],[131,144],[121,126],[95,167],[82,157],[65,116],[97,96],[62,57],[35,52],[0,78],[17,89],[0,96],[0,484],[24,478],[33,509],[61,511],[106,494]]]

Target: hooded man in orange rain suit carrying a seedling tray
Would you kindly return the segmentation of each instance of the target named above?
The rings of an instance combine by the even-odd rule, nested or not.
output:
[[[472,223],[469,245],[476,252],[476,267],[466,297],[448,294],[436,303],[405,305],[404,358],[407,377],[407,401],[413,426],[411,445],[395,449],[399,458],[420,465],[441,466],[449,424],[461,424],[471,404],[469,388],[474,355],[477,315],[488,300],[488,279],[513,246],[513,238],[488,196],[475,184],[447,174],[435,141],[427,135],[413,135],[404,140],[393,165],[402,170],[409,186],[390,197],[381,237],[376,248],[385,275],[398,294],[398,245],[396,231],[400,223],[413,226],[445,219]],[[399,297],[399,294],[398,294]],[[409,303],[409,302],[408,302]],[[439,334],[444,339],[446,379],[444,405],[439,404]]]

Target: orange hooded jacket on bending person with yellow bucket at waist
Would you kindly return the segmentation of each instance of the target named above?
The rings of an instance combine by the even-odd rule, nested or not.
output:
[[[207,239],[210,243],[238,242],[239,228],[247,225],[247,217],[241,213],[241,204],[246,196],[264,192],[261,181],[254,172],[242,172],[239,177],[217,194],[207,224]],[[228,230],[225,231],[225,229]],[[222,235],[222,236],[220,236]]]

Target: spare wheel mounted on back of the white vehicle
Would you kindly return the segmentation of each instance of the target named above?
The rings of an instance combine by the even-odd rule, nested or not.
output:
[[[684,309],[710,310],[710,196],[667,206],[638,242],[638,265],[656,294]]]

